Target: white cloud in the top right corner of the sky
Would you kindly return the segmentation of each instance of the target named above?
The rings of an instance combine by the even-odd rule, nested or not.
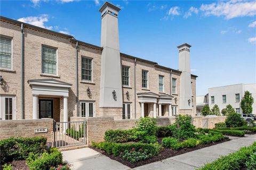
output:
[[[200,10],[205,16],[225,16],[227,20],[241,16],[254,16],[256,15],[256,1],[220,1],[202,4]]]

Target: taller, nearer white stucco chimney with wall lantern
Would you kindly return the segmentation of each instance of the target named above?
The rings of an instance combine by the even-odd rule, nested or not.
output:
[[[105,2],[101,8],[101,78],[100,107],[122,107],[122,77],[119,52],[118,11],[121,9]],[[114,92],[116,97],[114,97]]]

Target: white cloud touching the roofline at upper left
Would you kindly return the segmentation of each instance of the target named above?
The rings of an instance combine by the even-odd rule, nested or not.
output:
[[[47,27],[45,25],[45,22],[48,22],[48,17],[49,16],[47,14],[43,14],[40,16],[28,16],[28,17],[20,18],[18,19],[18,21],[51,30],[53,28],[52,26]]]

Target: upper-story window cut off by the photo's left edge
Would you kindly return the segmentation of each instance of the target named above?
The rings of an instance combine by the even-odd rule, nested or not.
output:
[[[0,37],[0,67],[12,68],[12,39]]]

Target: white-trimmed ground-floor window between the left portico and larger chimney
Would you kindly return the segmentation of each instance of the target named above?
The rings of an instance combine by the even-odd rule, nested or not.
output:
[[[80,103],[81,117],[95,117],[95,103],[90,101],[81,101]]]

